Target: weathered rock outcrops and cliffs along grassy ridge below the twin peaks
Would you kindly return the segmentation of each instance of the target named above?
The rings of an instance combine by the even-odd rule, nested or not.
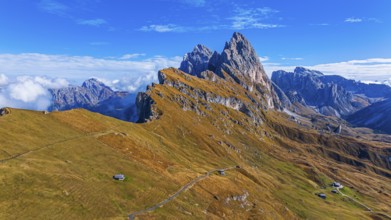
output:
[[[168,77],[166,73],[171,76]],[[178,77],[173,77],[172,74],[177,74]],[[250,95],[247,96],[250,101],[243,101],[243,97],[239,98],[232,93],[230,93],[231,95],[221,95],[221,91],[216,93],[214,91],[193,87],[191,83],[194,81],[194,78],[175,68],[159,71],[158,78],[159,84],[166,87],[172,87],[179,92],[169,99],[178,104],[183,111],[193,111],[197,115],[206,116],[214,109],[213,104],[219,104],[245,114],[249,117],[248,121],[254,125],[263,124],[261,110],[266,110],[267,108]],[[211,71],[202,72],[201,78],[213,81],[219,85],[227,83],[225,79],[218,77]],[[208,81],[205,81],[204,83],[208,83]],[[137,96],[138,122],[140,123],[157,119],[161,115],[161,112],[156,108],[155,102],[151,97],[151,94],[155,91],[154,88],[155,85],[149,86],[146,92],[139,93]],[[224,88],[228,89],[230,87]],[[238,88],[243,90],[239,85],[236,89]],[[157,92],[157,95],[163,97],[163,94],[160,92]]]

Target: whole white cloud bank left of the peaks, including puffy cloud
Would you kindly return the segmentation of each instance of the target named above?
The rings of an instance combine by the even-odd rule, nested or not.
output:
[[[134,61],[124,56],[0,54],[0,107],[46,110],[52,102],[48,89],[81,85],[89,78],[117,91],[144,91],[157,81],[158,70],[178,67],[180,61],[163,56]]]

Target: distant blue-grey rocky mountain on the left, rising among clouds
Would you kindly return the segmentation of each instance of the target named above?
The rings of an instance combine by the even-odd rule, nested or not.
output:
[[[53,97],[49,111],[85,108],[125,121],[136,120],[136,95],[113,91],[96,79],[89,79],[82,86],[49,91]]]

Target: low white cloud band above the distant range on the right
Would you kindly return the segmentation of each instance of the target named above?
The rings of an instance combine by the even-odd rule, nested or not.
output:
[[[276,70],[293,71],[295,68],[295,66],[285,66],[280,63],[263,63],[263,65],[268,75]],[[304,67],[319,70],[326,75],[341,75],[348,79],[361,81],[385,81],[391,76],[391,58],[350,60]]]

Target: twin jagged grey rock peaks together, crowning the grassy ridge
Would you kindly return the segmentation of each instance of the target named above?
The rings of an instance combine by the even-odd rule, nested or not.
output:
[[[201,78],[204,71],[214,72],[219,77],[225,77],[226,73],[245,89],[258,91],[268,108],[279,106],[277,95],[257,53],[250,42],[238,32],[226,42],[221,54],[216,51],[211,54],[210,49],[197,45],[193,52],[184,56],[179,69]]]

